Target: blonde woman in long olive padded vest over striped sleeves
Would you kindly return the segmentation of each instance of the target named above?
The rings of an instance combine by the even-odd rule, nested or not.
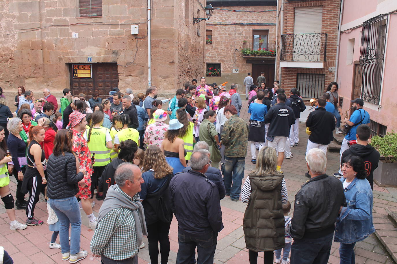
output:
[[[241,190],[241,201],[248,203],[243,230],[250,264],[256,264],[261,251],[264,251],[264,264],[273,263],[273,251],[285,246],[282,204],[287,203],[288,193],[283,177],[277,172],[276,151],[267,146],[260,149],[256,168],[248,174]],[[275,232],[262,233],[264,229]]]

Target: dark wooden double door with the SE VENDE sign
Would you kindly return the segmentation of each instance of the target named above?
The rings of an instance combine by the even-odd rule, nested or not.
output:
[[[91,78],[74,78],[76,71],[73,65],[91,64]],[[117,63],[70,63],[70,90],[73,96],[84,93],[86,98],[91,98],[94,91],[99,92],[101,98],[107,97],[109,92],[118,87],[119,73]]]

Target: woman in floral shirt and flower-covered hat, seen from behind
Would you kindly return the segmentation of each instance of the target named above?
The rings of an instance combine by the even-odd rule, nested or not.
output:
[[[164,135],[168,130],[168,124],[164,123],[167,119],[167,112],[163,109],[158,109],[153,114],[153,124],[146,127],[143,143],[148,146],[156,145],[161,146],[164,140]]]

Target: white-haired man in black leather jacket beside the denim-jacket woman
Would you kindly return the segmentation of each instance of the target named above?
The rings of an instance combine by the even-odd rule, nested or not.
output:
[[[324,151],[310,149],[306,165],[311,179],[295,195],[291,264],[323,264],[328,263],[336,218],[346,199],[342,182],[325,174]]]

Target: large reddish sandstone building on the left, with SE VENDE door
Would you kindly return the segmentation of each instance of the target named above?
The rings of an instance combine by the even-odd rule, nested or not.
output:
[[[205,17],[205,1],[151,3],[151,84],[174,92],[204,74],[205,22],[193,24],[193,17]],[[71,88],[87,97],[114,86],[145,92],[147,8],[143,0],[0,2],[0,86],[6,95],[19,85],[57,95]]]

